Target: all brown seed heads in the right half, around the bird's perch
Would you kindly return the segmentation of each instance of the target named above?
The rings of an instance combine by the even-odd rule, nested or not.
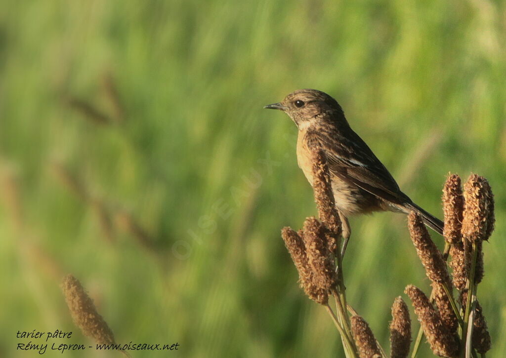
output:
[[[286,248],[299,272],[301,287],[312,300],[327,304],[328,296],[335,292],[338,276],[334,270],[334,257],[339,254],[341,221],[335,209],[325,156],[316,151],[313,165],[313,189],[320,220],[308,217],[299,232],[291,228],[282,230]],[[455,357],[465,342],[458,335],[461,317],[466,311],[470,286],[471,267],[474,267],[474,285],[483,279],[482,243],[494,230],[494,200],[487,180],[472,174],[462,191],[460,177],[452,174],[443,189],[444,238],[449,250],[443,254],[432,241],[422,218],[415,212],[408,216],[411,240],[417,255],[431,281],[432,294],[428,297],[419,288],[408,285],[405,293],[410,298],[415,314],[434,354]],[[472,257],[476,261],[472,264]],[[446,256],[451,256],[447,268]],[[453,288],[458,300],[453,297]],[[460,312],[455,313],[456,303]],[[477,300],[473,321],[472,347],[479,353],[490,349],[490,335]],[[367,322],[360,316],[351,317],[351,332],[355,341],[355,354],[360,358],[383,357]],[[392,358],[405,358],[411,345],[411,321],[406,304],[399,296],[392,306],[390,346]]]

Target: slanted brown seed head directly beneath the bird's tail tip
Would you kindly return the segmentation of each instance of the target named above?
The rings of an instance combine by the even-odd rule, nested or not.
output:
[[[443,255],[431,240],[421,217],[415,212],[408,216],[408,227],[416,253],[425,267],[427,277],[433,282],[450,282]]]

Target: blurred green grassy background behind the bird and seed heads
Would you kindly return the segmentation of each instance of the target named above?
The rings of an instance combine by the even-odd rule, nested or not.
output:
[[[38,354],[15,350],[28,341],[18,330],[91,343],[59,289],[72,273],[119,343],[180,344],[135,358],[343,356],[280,238],[316,213],[297,130],[262,109],[309,87],[340,102],[403,191],[437,216],[448,172],[489,179],[497,226],[479,297],[487,356],[503,356],[505,10],[483,0],[3,2],[0,355]],[[348,299],[388,349],[394,298],[429,282],[405,216],[351,225]]]

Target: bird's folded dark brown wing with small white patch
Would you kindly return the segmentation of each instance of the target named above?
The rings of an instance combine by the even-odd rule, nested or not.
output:
[[[330,172],[346,183],[396,204],[410,202],[365,142],[347,129],[346,138],[332,129],[308,130],[306,143],[310,148],[323,150]]]

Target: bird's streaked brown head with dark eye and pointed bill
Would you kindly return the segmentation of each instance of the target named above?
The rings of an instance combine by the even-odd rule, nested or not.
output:
[[[279,103],[265,106],[268,109],[280,109],[290,116],[299,130],[318,122],[336,122],[347,124],[343,109],[332,97],[317,89],[298,89],[290,93]]]

